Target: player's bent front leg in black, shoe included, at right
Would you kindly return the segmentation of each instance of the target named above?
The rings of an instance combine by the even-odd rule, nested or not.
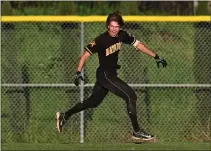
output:
[[[102,78],[101,78],[102,79]],[[107,82],[106,82],[107,81]],[[137,96],[134,90],[123,80],[116,76],[110,76],[104,72],[104,79],[101,81],[102,85],[121,97],[126,101],[128,116],[131,120],[133,127],[133,139],[142,139],[142,140],[151,140],[154,138],[153,135],[148,134],[143,127],[140,127],[137,121],[137,112],[136,112],[136,101]]]

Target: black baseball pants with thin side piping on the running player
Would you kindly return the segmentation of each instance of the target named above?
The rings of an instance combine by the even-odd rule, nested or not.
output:
[[[117,77],[116,69],[102,70],[98,68],[96,78],[97,82],[94,85],[92,95],[87,100],[76,104],[73,108],[65,112],[65,119],[67,120],[71,115],[82,110],[97,107],[110,91],[125,100],[133,130],[136,132],[139,131],[140,128],[136,113],[137,96],[134,90]]]

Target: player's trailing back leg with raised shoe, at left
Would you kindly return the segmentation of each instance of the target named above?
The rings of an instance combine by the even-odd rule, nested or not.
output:
[[[62,131],[62,126],[73,114],[76,114],[80,111],[89,108],[97,107],[103,101],[103,99],[107,94],[108,90],[101,87],[98,83],[96,83],[93,88],[91,96],[87,100],[77,103],[75,106],[67,110],[65,113],[57,112],[56,119],[57,119],[57,129],[59,133]]]

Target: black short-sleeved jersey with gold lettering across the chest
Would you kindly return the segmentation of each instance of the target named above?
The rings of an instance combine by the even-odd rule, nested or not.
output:
[[[90,42],[85,50],[90,54],[98,53],[100,68],[110,69],[118,66],[122,43],[133,45],[135,42],[136,38],[124,30],[120,30],[116,37],[110,36],[106,31]]]

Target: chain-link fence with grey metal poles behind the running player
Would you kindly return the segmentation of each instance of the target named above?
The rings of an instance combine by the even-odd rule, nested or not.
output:
[[[73,80],[83,47],[105,23],[1,24],[2,142],[127,142],[131,124],[125,102],[109,93],[95,109],[73,115],[62,134],[56,111],[92,93],[97,55],[89,58],[85,85]],[[127,22],[125,30],[167,60],[124,45],[118,75],[138,96],[138,121],[159,141],[210,141],[211,25],[191,22]],[[84,116],[83,116],[84,115]]]

